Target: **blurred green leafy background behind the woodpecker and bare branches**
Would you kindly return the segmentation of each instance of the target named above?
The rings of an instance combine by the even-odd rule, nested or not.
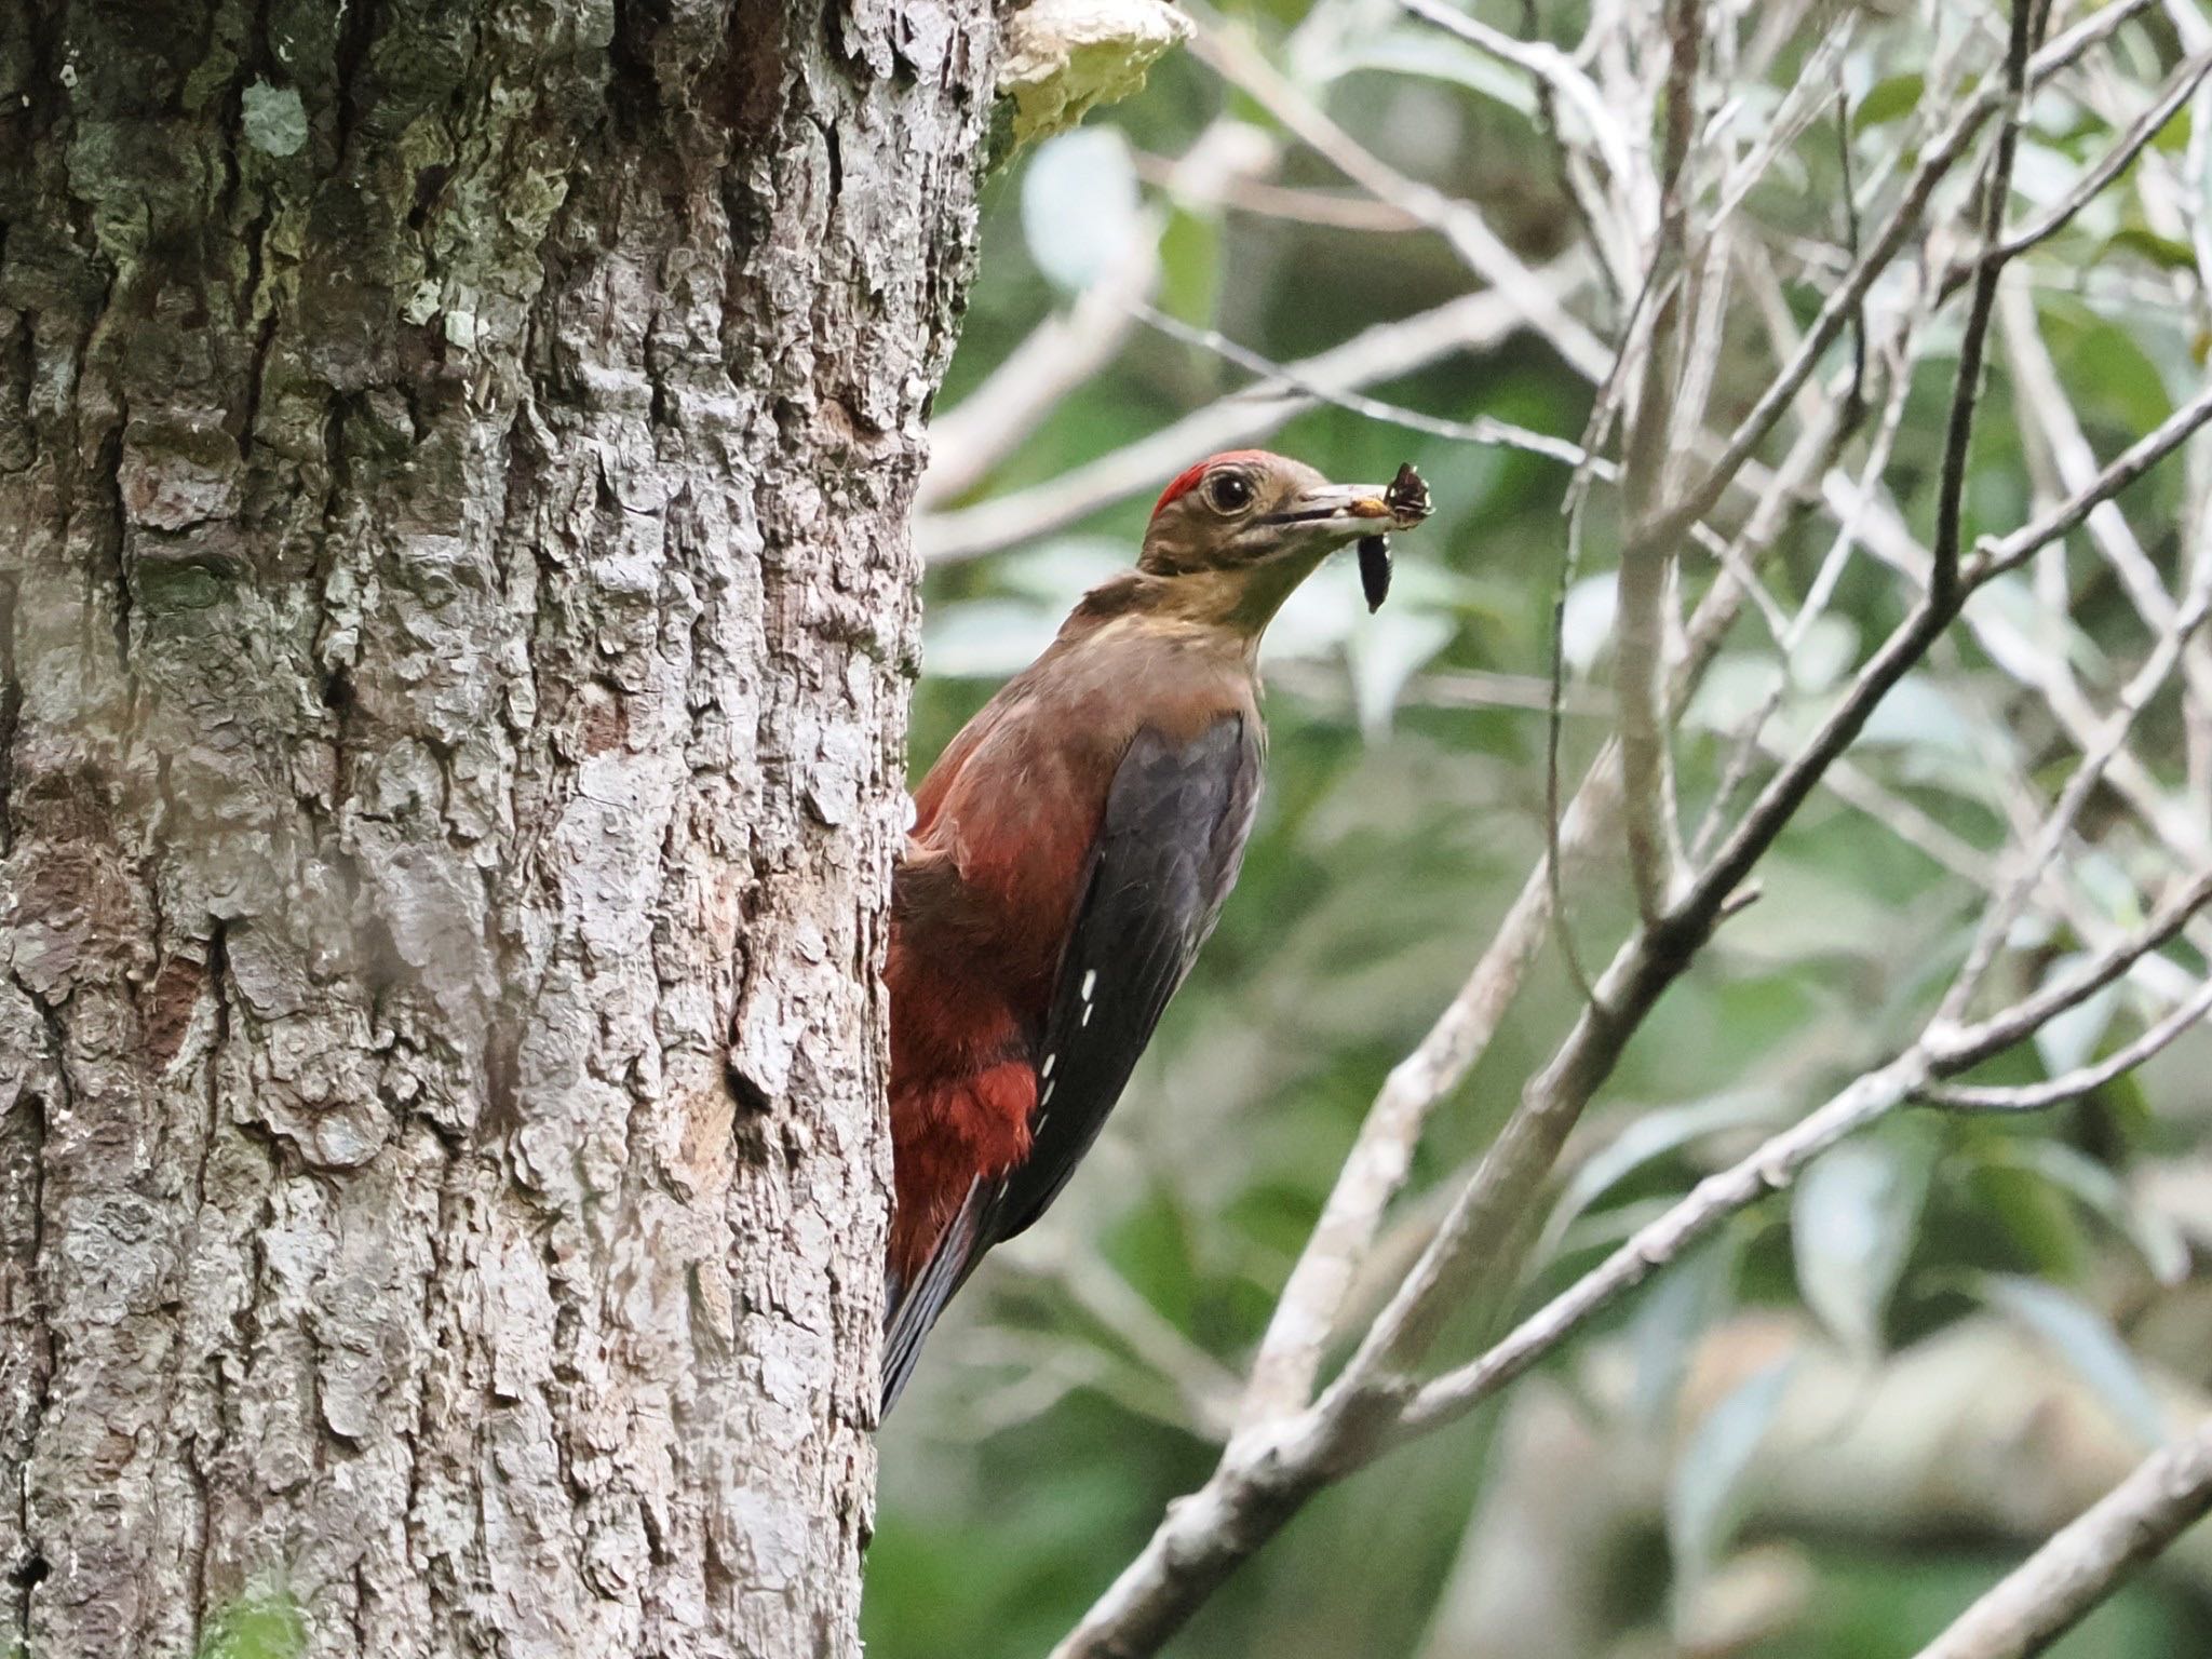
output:
[[[1933,51],[1927,11],[1942,9],[1869,9],[1845,55],[1860,179],[1913,142]],[[1517,4],[1482,15],[1524,29]],[[1783,53],[1772,86],[1750,88],[1754,100],[1778,97],[1825,18],[1805,15],[1805,40]],[[1254,44],[1374,153],[1478,204],[1526,261],[1566,248],[1573,217],[1524,82],[1389,4],[1360,9],[1332,31],[1347,44],[1310,62],[1285,46],[1307,20],[1298,0],[1201,18]],[[1958,27],[1978,24],[2002,29],[2002,13]],[[1582,27],[1573,7],[1542,9],[1542,33],[1557,42]],[[2150,15],[2121,31],[2106,71],[2152,86],[2174,62],[2172,33]],[[1279,142],[1267,190],[1221,201],[1161,188],[1166,164],[1223,117]],[[2037,100],[2024,208],[2055,199],[2112,135],[2086,102]],[[2188,137],[2188,115],[2177,117],[2154,150],[2179,166]],[[1834,248],[1838,199],[1838,131],[1825,122],[1778,159],[1750,212],[1783,254]],[[1365,197],[1197,55],[1170,55],[1139,97],[995,177],[942,407],[958,409],[1124,237],[1152,226],[1152,303],[1276,361],[1467,292],[1440,237],[1343,204]],[[2099,453],[2199,383],[2205,319],[2192,279],[2188,248],[2154,234],[2126,186],[2037,257],[2037,321]],[[1785,292],[1801,323],[1820,299],[1801,272]],[[1756,363],[1741,385],[1730,367],[1723,407],[1759,387]],[[1922,361],[1889,469],[1920,533],[1953,367],[1944,343]],[[1133,327],[1104,369],[949,504],[1055,480],[1248,383],[1210,349]],[[1369,389],[1566,438],[1590,409],[1590,385],[1526,334]],[[1973,451],[1969,535],[2011,529],[2031,507],[2011,396],[2000,365]],[[1367,1104],[1542,854],[1540,701],[1568,471],[1334,407],[1296,416],[1270,447],[1336,478],[1387,478],[1413,460],[1438,515],[1398,542],[1398,591],[1380,615],[1365,613],[1343,560],[1276,624],[1270,792],[1221,929],[1068,1194],[975,1279],[883,1433],[867,1564],[876,1659],[1046,1652],[1161,1509],[1206,1478],[1219,1413]],[[2183,557],[2185,493],[2188,473],[2172,467],[2126,498],[2168,580]],[[931,568],[916,776],[1068,602],[1133,555],[1146,507],[1121,500],[1075,529]],[[1568,781],[1610,708],[1606,511],[1593,513],[1566,608]],[[1803,597],[1832,538],[1816,518],[1785,533],[1772,575],[1785,602]],[[1708,577],[1697,562],[1686,571],[1692,588]],[[2084,562],[2068,599],[2042,606],[2026,575],[1997,595],[2031,653],[2064,653],[2108,692],[2141,648],[2124,595]],[[1891,573],[1854,564],[1792,661],[1776,730],[1814,719],[1900,611]],[[1688,823],[1712,799],[1728,732],[1765,695],[1772,661],[1759,624],[1739,624],[1677,743]],[[1836,794],[1814,799],[1761,867],[1761,900],[1668,995],[1599,1097],[1531,1270],[1469,1310],[1451,1354],[1918,1029],[1980,914],[1986,894],[1971,872],[2004,845],[2008,792],[2017,779],[2044,790],[2064,779],[2066,750],[2024,690],[2031,675],[2033,664],[1960,633],[1898,688],[1851,759],[1924,832],[1900,834],[1896,814]],[[2137,752],[2177,792],[2183,743],[2177,712],[2154,706]],[[2130,922],[2130,876],[2146,858],[2115,810],[2097,816],[2066,878]],[[1577,878],[1582,956],[1601,962],[1630,914],[1619,858]],[[2079,949],[2062,925],[2013,945],[2017,987]],[[1482,1148],[1571,1020],[1577,995],[1555,958],[1438,1115],[1385,1261],[1418,1248],[1438,1179]],[[2026,1082],[2110,1051],[2166,1006],[2154,989],[2124,982],[1991,1079]],[[1911,1113],[1845,1144],[1500,1405],[1301,1513],[1172,1652],[1913,1652],[2212,1391],[2208,1062],[2212,1040],[2194,1033],[2048,1117]],[[2205,1650],[2203,1533],[2059,1648],[2075,1659]]]

